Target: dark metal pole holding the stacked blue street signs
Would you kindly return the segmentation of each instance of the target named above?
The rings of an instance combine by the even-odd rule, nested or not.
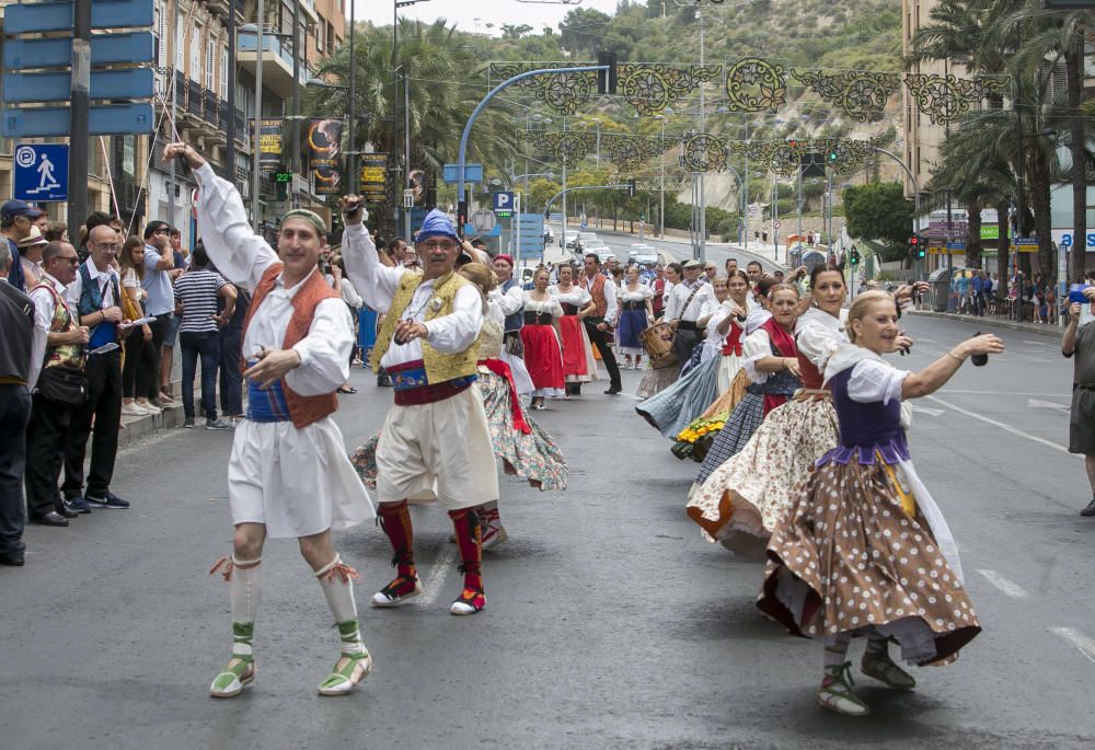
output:
[[[72,28],[72,103],[69,116],[68,223],[72,236],[88,216],[88,113],[91,101],[91,0],[76,0]]]

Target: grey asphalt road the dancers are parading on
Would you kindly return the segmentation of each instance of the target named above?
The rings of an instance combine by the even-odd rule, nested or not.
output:
[[[919,367],[972,325],[908,321]],[[36,748],[1090,748],[1095,715],[1095,519],[1067,453],[1070,365],[1052,339],[1002,332],[1010,350],[965,366],[918,403],[911,445],[957,538],[984,632],[957,664],[918,670],[912,693],[858,681],[873,705],[815,705],[821,648],[760,616],[760,567],[700,539],[684,517],[696,466],[587,388],[537,414],[570,461],[570,488],[503,480],[510,541],[487,553],[489,603],[453,618],[447,519],[415,509],[427,593],[367,605],[391,576],[373,526],[337,534],[376,670],[320,699],[336,637],[293,542],[264,557],[258,679],[207,696],[229,650],[228,591],[209,565],[230,549],[231,435],[176,429],[128,449],[128,511],[32,527],[27,565],[0,569],[0,747]],[[625,371],[633,392],[637,372]],[[365,371],[337,419],[347,447],[391,392]],[[862,646],[853,646],[857,660]]]

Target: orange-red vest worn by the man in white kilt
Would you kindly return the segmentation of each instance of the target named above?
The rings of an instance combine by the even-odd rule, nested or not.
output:
[[[255,287],[255,293],[251,298],[251,308],[247,310],[247,316],[243,320],[244,338],[247,336],[247,326],[251,325],[251,318],[263,303],[263,300],[266,299],[266,295],[277,285],[277,277],[281,273],[281,267],[280,263],[272,264],[263,274],[258,286]],[[303,286],[292,297],[292,318],[289,319],[289,326],[286,328],[281,348],[290,349],[295,344],[303,339],[308,335],[309,328],[312,327],[312,319],[315,318],[316,305],[323,300],[335,298],[341,299],[338,292],[327,286],[327,282],[323,280],[323,276],[316,272],[312,272],[308,280],[304,281]],[[240,367],[241,369],[245,368],[245,365],[241,362]],[[289,388],[284,378],[281,379],[281,390],[285,392],[285,401],[289,405],[289,416],[292,417],[292,426],[297,429],[303,429],[323,417],[334,414],[335,409],[338,408],[338,399],[334,393],[302,396]]]

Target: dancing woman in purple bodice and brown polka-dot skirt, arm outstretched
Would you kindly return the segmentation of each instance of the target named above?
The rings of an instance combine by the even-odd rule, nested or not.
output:
[[[852,343],[825,371],[840,443],[776,524],[757,602],[793,634],[825,641],[818,702],[848,716],[871,713],[852,692],[851,636],[867,636],[864,674],[911,690],[917,682],[890,659],[890,641],[907,664],[945,664],[981,631],[954,538],[912,466],[902,405],[943,386],[967,357],[1004,345],[977,336],[920,372],[902,371],[880,356],[896,348],[897,321],[881,291],[860,295],[849,311]]]

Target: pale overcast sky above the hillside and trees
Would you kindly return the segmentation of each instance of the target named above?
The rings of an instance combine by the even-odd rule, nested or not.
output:
[[[359,21],[372,21],[384,25],[392,23],[392,4],[394,0],[357,0],[355,14]],[[519,25],[527,23],[538,32],[545,25],[550,25],[556,32],[558,23],[572,10],[577,8],[596,8],[597,10],[612,13],[615,11],[616,0],[583,0],[580,4],[555,4],[544,2],[518,2],[518,0],[492,0],[482,2],[476,0],[428,0],[419,2],[408,8],[400,9],[400,16],[420,19],[423,21],[434,21],[445,19],[450,25],[465,32],[479,32],[482,34],[499,33],[503,24]],[[493,23],[493,28],[487,28],[486,24]]]

